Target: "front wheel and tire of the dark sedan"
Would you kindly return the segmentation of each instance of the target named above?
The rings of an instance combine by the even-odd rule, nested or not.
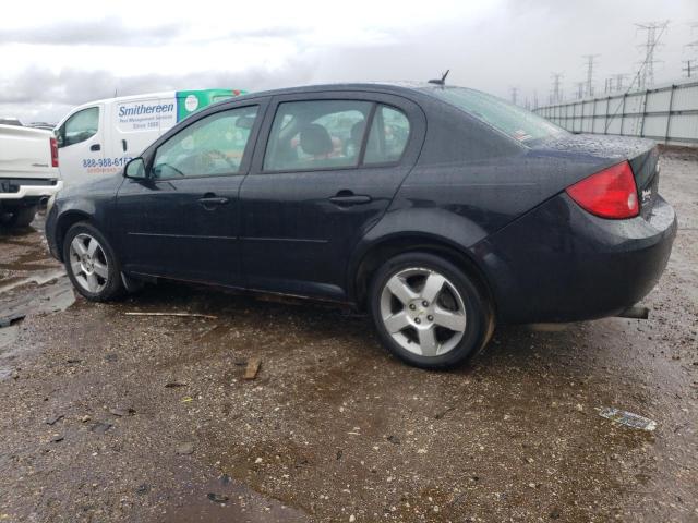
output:
[[[123,293],[119,260],[104,234],[91,223],[81,221],[68,230],[63,263],[75,290],[91,302],[107,302]]]

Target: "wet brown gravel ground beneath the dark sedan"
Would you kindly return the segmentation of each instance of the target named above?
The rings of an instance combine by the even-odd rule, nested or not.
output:
[[[40,219],[2,233],[0,316],[29,314],[0,329],[0,522],[698,521],[698,155],[664,151],[660,190],[681,224],[649,320],[502,327],[449,373],[318,305],[72,303]]]

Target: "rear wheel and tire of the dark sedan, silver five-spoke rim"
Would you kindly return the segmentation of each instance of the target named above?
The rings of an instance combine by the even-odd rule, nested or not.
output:
[[[492,306],[473,280],[428,253],[406,253],[383,264],[369,301],[383,344],[420,368],[465,363],[484,348],[494,328]]]

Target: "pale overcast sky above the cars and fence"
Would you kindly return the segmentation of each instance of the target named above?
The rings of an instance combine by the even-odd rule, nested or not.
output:
[[[21,7],[24,5],[24,7]],[[478,0],[13,3],[0,25],[0,117],[57,122],[98,98],[168,89],[344,81],[448,82],[541,102],[551,73],[571,95],[582,54],[605,77],[643,58],[635,23],[669,20],[658,83],[698,59],[698,0]]]

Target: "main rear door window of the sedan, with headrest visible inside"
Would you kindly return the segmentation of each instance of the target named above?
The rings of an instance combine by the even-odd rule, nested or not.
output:
[[[264,170],[358,166],[372,106],[360,100],[280,104],[269,133]]]

